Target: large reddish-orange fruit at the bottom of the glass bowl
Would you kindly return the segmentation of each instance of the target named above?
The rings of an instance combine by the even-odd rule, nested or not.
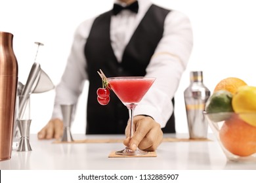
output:
[[[237,156],[250,156],[256,153],[256,127],[233,114],[226,120],[219,132],[220,140],[229,152]]]

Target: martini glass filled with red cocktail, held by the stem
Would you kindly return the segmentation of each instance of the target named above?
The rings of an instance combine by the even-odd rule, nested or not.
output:
[[[126,77],[112,77],[107,78],[111,89],[116,93],[117,97],[121,100],[123,105],[125,105],[129,110],[129,117],[131,120],[130,124],[130,136],[129,139],[133,137],[133,116],[135,107],[141,101],[142,97],[148,92],[156,78],[143,77],[143,76],[126,76]],[[144,150],[131,150],[129,147],[117,151],[116,154],[119,155],[144,155],[148,152]]]

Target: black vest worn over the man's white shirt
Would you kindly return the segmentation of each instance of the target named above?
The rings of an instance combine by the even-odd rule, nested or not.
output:
[[[89,76],[89,95],[87,103],[87,134],[124,134],[128,109],[110,92],[110,103],[102,106],[97,101],[96,90],[102,87],[97,71],[102,69],[110,76],[144,76],[150,58],[163,35],[163,24],[169,10],[152,5],[125,47],[119,63],[110,42],[110,19],[112,11],[98,16],[91,27],[85,44],[87,59],[86,71]],[[174,100],[173,100],[174,102]],[[135,108],[136,110],[136,108]],[[163,132],[174,133],[174,115]]]

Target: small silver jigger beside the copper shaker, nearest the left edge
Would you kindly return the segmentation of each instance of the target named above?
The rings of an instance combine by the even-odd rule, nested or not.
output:
[[[17,151],[31,151],[30,146],[30,124],[31,120],[18,120],[18,128],[20,129],[20,143]]]

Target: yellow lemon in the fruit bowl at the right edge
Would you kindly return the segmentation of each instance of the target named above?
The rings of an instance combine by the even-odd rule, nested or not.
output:
[[[240,118],[256,127],[256,87],[240,86],[233,96],[232,107],[240,113]]]

